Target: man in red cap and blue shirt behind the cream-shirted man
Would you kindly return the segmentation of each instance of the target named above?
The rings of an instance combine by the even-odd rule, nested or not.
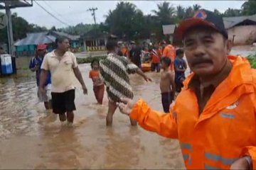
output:
[[[36,57],[33,57],[31,59],[31,62],[29,64],[29,69],[31,69],[32,72],[36,72],[36,84],[39,87],[39,79],[41,74],[41,64],[43,63],[43,57],[46,55],[46,45],[41,44],[37,46],[36,50]],[[42,94],[41,91],[38,88],[37,94],[38,99],[40,102],[44,102],[44,105],[46,107],[46,110],[49,110],[51,108],[51,96],[50,96],[50,89],[51,89],[51,81],[50,81],[50,72],[48,72],[48,78],[46,81],[46,94]]]

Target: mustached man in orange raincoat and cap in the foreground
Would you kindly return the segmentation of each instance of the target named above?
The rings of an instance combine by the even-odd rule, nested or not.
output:
[[[186,169],[256,169],[256,70],[229,55],[223,18],[211,11],[197,11],[176,34],[193,73],[170,113],[127,98],[120,111],[145,130],[178,139]]]

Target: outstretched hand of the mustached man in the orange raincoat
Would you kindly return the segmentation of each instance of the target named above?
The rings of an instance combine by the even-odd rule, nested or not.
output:
[[[132,101],[129,98],[121,98],[121,102],[117,103],[117,106],[121,113],[125,115],[129,115],[132,112],[132,108],[134,108],[136,101]]]

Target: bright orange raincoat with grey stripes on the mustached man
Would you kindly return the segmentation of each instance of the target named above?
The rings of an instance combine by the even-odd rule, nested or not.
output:
[[[196,94],[188,89],[194,74],[184,81],[171,113],[153,111],[141,99],[130,114],[142,128],[178,139],[187,169],[230,169],[245,155],[256,168],[256,70],[245,58],[228,58],[233,69],[201,115]]]

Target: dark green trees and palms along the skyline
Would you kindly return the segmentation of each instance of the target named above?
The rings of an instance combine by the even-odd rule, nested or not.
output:
[[[171,4],[171,1],[163,1],[157,5],[156,10],[151,14],[144,15],[142,11],[134,4],[125,1],[119,1],[114,10],[110,10],[105,16],[105,22],[97,25],[79,23],[76,26],[56,29],[54,26],[50,30],[63,31],[69,34],[84,35],[90,30],[97,30],[100,33],[112,33],[124,40],[137,40],[139,38],[150,38],[156,35],[157,39],[164,38],[162,25],[178,24],[183,19],[190,18],[193,13],[201,6],[195,4],[184,8]],[[242,4],[241,9],[228,8],[224,13],[217,9],[214,13],[223,17],[253,15],[256,13],[256,1],[247,0]],[[24,18],[12,14],[12,24],[14,32],[14,41],[25,38],[26,33],[46,31],[46,27],[30,24]],[[6,28],[0,29],[0,43],[8,42]]]

